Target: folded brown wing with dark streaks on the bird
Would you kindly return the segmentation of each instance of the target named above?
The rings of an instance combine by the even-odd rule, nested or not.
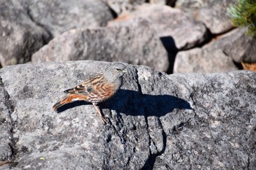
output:
[[[97,76],[87,80],[86,82],[83,82],[81,85],[78,85],[75,88],[64,90],[64,93],[89,94],[94,90],[94,86],[102,81],[102,78],[103,74],[98,74]]]

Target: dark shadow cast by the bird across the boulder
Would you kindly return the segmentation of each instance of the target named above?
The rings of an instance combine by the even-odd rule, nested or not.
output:
[[[58,109],[63,112],[72,107],[87,105],[86,101],[75,101]],[[149,95],[134,90],[118,90],[116,96],[98,104],[99,109],[113,109],[125,115],[146,115],[162,117],[173,109],[192,109],[184,99],[170,95]]]

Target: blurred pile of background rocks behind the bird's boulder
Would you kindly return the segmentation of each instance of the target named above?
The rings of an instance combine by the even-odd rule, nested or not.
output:
[[[233,28],[231,3],[1,0],[0,66],[96,60],[169,74],[238,70],[241,62],[256,63],[256,39]]]

